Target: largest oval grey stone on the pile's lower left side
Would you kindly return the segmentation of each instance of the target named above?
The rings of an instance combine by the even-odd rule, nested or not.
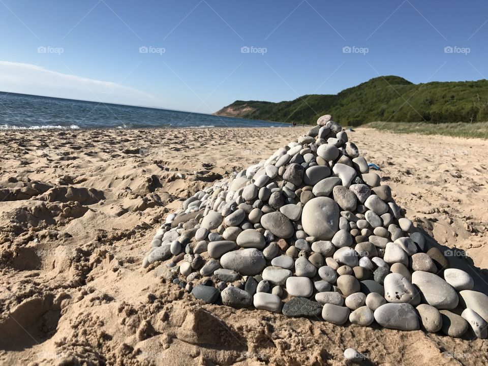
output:
[[[225,253],[220,258],[223,268],[232,269],[242,276],[254,276],[266,266],[263,253],[256,248],[245,248]]]

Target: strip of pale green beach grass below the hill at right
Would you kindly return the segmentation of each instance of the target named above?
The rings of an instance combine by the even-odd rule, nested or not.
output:
[[[395,133],[418,133],[421,135],[444,135],[488,139],[488,122],[440,124],[430,124],[425,122],[371,122],[363,125],[363,127]]]

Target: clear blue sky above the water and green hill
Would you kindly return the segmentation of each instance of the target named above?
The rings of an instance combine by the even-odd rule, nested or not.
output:
[[[488,76],[488,2],[0,0],[0,90],[213,113]]]

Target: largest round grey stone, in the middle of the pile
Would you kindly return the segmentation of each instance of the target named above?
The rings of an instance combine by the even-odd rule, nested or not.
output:
[[[308,201],[303,207],[301,224],[308,235],[319,240],[329,240],[339,230],[339,216],[339,206],[334,200],[328,197],[317,197]],[[291,229],[293,231],[293,228]]]

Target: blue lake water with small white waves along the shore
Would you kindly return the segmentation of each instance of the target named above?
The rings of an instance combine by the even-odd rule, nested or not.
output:
[[[0,129],[285,127],[289,124],[0,92]]]

